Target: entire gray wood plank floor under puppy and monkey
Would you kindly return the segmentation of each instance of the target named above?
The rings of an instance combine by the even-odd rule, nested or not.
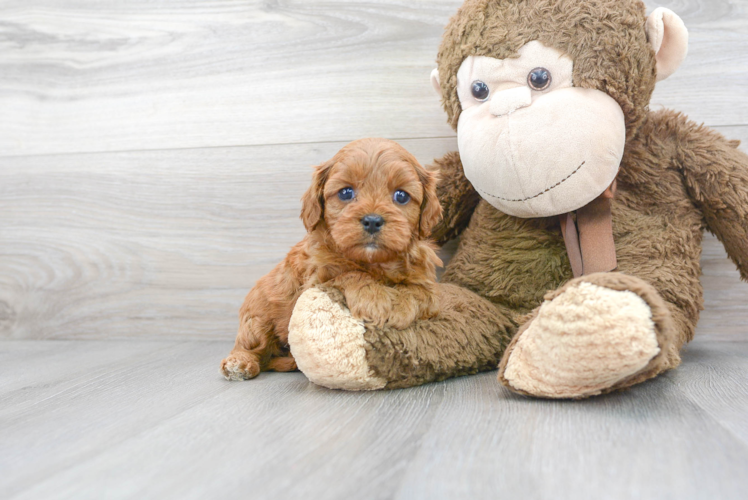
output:
[[[494,372],[374,393],[226,382],[226,348],[0,342],[39,366],[0,389],[3,498],[745,498],[745,339],[697,340],[678,370],[582,402],[514,396]]]

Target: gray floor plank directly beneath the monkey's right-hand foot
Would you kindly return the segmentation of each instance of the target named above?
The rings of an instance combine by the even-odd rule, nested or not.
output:
[[[670,375],[583,402],[524,399],[488,374],[456,384],[395,498],[744,496],[745,443]]]

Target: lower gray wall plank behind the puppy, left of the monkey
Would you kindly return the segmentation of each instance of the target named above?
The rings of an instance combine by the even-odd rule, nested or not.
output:
[[[423,162],[456,148],[401,142]],[[0,338],[233,338],[343,145],[0,158]]]

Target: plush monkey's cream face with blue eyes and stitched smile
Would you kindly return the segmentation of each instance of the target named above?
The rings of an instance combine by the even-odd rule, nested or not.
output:
[[[624,114],[599,90],[575,88],[573,61],[538,41],[519,57],[470,56],[457,73],[465,175],[516,217],[558,215],[613,182],[626,143]]]

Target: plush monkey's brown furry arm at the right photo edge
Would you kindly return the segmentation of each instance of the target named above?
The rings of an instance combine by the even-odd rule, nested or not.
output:
[[[740,141],[693,123],[685,128],[678,160],[689,195],[748,281],[748,155]]]

